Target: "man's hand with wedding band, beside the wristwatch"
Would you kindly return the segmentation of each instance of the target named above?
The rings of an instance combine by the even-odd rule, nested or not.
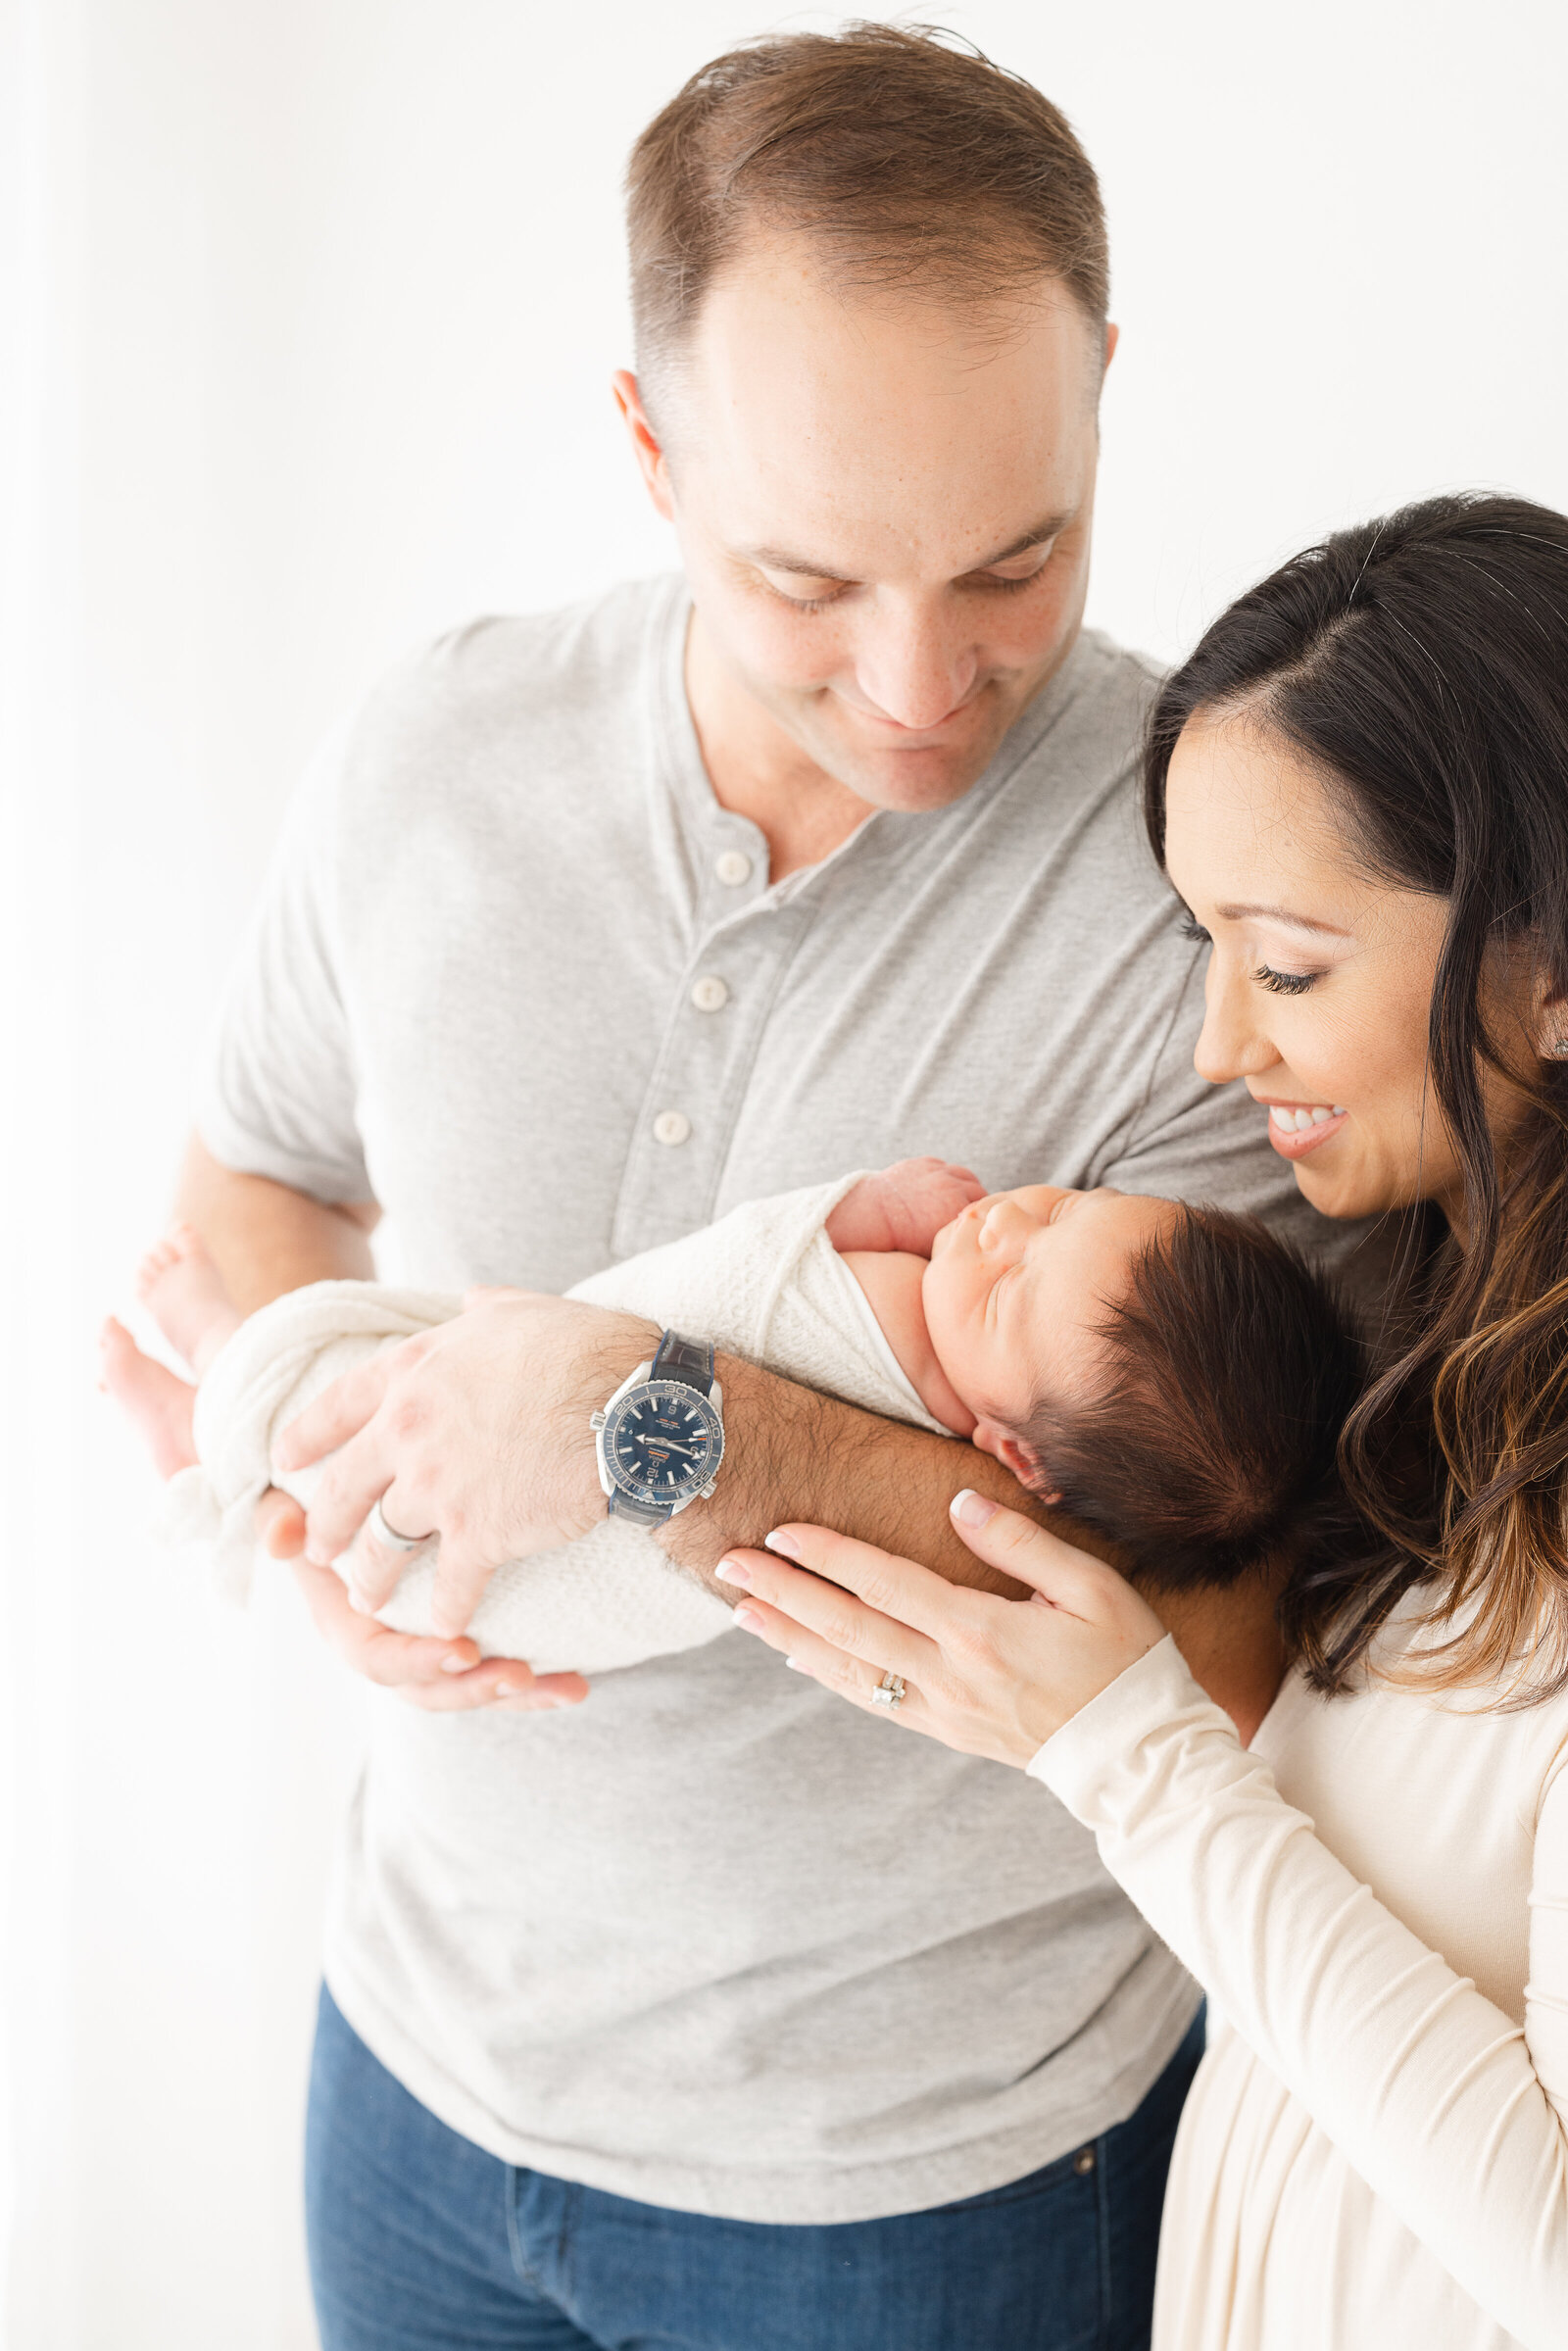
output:
[[[588,1418],[656,1347],[632,1314],[475,1291],[456,1321],[383,1347],[277,1439],[280,1469],[336,1455],[310,1498],[308,1561],[327,1568],[353,1545],[355,1596],[378,1608],[407,1566],[360,1533],[381,1502],[397,1533],[440,1535],[430,1615],[461,1634],[503,1561],[604,1516]]]

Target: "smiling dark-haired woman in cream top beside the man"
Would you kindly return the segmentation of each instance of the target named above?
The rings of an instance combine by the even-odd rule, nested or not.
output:
[[[769,1545],[830,1585],[719,1573],[795,1667],[1044,1780],[1208,1987],[1161,2351],[1561,2351],[1568,520],[1443,498],[1286,564],[1166,684],[1147,820],[1201,1074],[1326,1215],[1425,1204],[1342,1441],[1361,1559],[1291,1575],[1251,1749],[1121,1578],[978,1495],[1034,1599],[806,1526]]]

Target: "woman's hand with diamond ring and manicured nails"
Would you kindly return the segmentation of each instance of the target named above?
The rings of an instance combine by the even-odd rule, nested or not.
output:
[[[748,1594],[736,1625],[823,1688],[961,1754],[1023,1766],[1166,1627],[1114,1568],[1016,1509],[959,1493],[952,1523],[1034,1596],[947,1585],[823,1526],[780,1526],[766,1552],[731,1552],[717,1575]],[[884,1674],[905,1681],[898,1707],[872,1697]]]

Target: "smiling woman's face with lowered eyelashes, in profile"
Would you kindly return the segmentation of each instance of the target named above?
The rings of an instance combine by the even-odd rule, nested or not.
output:
[[[1248,715],[1182,731],[1166,868],[1213,940],[1199,1074],[1246,1081],[1324,1215],[1434,1199],[1458,1220],[1427,1084],[1448,903],[1366,875],[1319,771]]]

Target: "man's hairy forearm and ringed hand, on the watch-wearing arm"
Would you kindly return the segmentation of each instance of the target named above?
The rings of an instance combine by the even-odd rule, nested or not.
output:
[[[277,1458],[292,1469],[331,1455],[310,1500],[310,1556],[339,1559],[362,1545],[364,1519],[386,1498],[395,1526],[440,1533],[433,1615],[461,1629],[505,1559],[602,1521],[590,1413],[656,1345],[658,1331],[632,1314],[534,1291],[475,1293],[456,1321],[346,1373],[280,1434]],[[717,1375],[724,1467],[712,1502],[693,1502],[658,1538],[703,1580],[729,1549],[750,1549],[776,1526],[813,1523],[917,1559],[950,1582],[1027,1596],[957,1540],[947,1505],[964,1486],[1105,1549],[959,1439],[879,1420],[741,1357],[722,1354]],[[390,1589],[397,1568],[395,1559],[364,1563],[371,1606],[383,1596],[374,1575]],[[1255,1721],[1279,1681],[1267,1592],[1258,1606],[1239,1594],[1150,1601],[1211,1695],[1237,1721],[1244,1712]]]

